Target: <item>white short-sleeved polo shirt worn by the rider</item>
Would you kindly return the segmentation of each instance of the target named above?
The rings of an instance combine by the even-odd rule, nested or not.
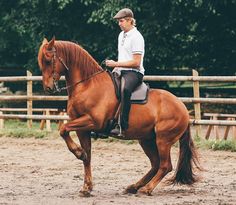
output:
[[[118,62],[129,61],[133,59],[133,54],[141,54],[141,63],[139,69],[116,67],[118,70],[135,70],[144,75],[143,57],[144,57],[144,39],[136,27],[128,32],[120,32],[118,37]]]

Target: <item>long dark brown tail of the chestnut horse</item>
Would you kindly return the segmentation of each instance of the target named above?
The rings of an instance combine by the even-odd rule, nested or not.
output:
[[[201,170],[201,167],[190,134],[190,125],[188,125],[187,129],[179,140],[179,160],[175,175],[172,179],[170,179],[172,184],[191,185],[198,181],[198,178],[193,173],[193,165],[195,165],[199,170]]]

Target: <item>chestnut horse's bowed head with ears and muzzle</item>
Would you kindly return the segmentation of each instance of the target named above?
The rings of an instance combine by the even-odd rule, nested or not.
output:
[[[38,64],[42,71],[44,90],[49,93],[58,91],[57,82],[67,66],[57,56],[54,37],[50,42],[46,38],[43,40],[38,52]]]

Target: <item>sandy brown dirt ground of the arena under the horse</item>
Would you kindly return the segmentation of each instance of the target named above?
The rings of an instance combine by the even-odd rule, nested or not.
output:
[[[94,190],[84,198],[79,196],[82,162],[61,138],[0,138],[0,204],[236,204],[236,153],[199,150],[206,169],[201,182],[193,187],[161,183],[152,196],[143,196],[122,194],[149,170],[138,144],[97,140],[92,152]],[[177,153],[173,148],[174,168]]]

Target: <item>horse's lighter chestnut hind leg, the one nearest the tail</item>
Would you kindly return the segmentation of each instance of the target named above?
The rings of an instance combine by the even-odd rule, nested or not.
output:
[[[172,164],[170,158],[170,149],[172,143],[167,141],[167,136],[158,136],[156,138],[156,144],[158,147],[158,153],[160,157],[160,165],[156,175],[138,191],[147,195],[151,195],[153,189],[157,184],[165,177],[165,175],[172,171]]]

